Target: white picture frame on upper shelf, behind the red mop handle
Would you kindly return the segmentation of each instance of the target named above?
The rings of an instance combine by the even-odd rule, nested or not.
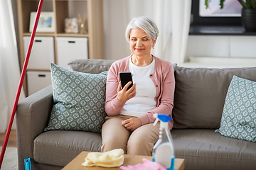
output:
[[[29,23],[30,33],[32,33],[35,20],[36,20],[36,12],[31,12],[31,18]],[[41,12],[36,32],[37,33],[54,33],[55,32],[55,17],[53,12]]]

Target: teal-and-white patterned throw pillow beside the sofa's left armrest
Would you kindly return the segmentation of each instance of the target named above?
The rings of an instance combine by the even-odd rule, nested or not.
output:
[[[53,109],[48,130],[101,132],[105,122],[107,72],[89,74],[50,64]]]

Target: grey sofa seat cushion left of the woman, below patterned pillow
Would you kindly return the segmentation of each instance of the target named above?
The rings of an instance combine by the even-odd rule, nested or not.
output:
[[[53,130],[43,132],[34,140],[33,159],[41,164],[65,166],[80,152],[100,152],[99,133]]]

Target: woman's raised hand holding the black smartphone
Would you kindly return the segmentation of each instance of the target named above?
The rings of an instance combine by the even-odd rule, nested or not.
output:
[[[127,84],[125,84],[124,88],[122,89],[121,81],[119,82],[117,88],[117,99],[119,101],[126,102],[130,98],[136,96],[136,84],[133,84],[133,86],[127,90],[130,84],[132,84],[132,81],[129,81]]]

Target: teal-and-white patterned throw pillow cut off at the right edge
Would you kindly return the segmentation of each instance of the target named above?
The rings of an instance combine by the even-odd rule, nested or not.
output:
[[[233,76],[225,98],[220,128],[226,137],[256,142],[256,82]]]

